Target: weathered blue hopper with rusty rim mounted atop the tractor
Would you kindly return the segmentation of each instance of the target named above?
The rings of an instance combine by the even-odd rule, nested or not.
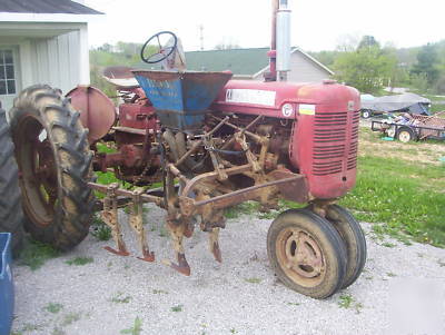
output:
[[[132,72],[161,125],[179,130],[201,128],[207,108],[233,76],[230,72]]]

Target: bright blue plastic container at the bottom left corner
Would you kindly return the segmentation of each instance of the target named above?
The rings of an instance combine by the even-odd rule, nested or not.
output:
[[[11,233],[0,233],[0,335],[9,335],[12,325],[14,293],[11,262]]]

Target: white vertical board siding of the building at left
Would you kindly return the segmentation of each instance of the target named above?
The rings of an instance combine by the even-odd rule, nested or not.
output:
[[[87,23],[3,26],[0,27],[0,48],[17,50],[17,93],[37,83],[60,88],[65,93],[79,83],[89,83]],[[14,95],[0,96],[4,109],[12,107],[13,98]]]

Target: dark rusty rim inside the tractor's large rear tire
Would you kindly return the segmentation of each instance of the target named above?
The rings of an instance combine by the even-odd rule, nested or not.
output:
[[[51,142],[42,122],[31,115],[20,120],[17,134],[24,210],[32,223],[48,226],[55,218],[59,193]]]

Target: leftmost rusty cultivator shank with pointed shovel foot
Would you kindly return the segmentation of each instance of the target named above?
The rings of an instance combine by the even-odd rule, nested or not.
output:
[[[119,256],[128,256],[129,253],[127,252],[127,246],[123,242],[118,220],[118,201],[116,194],[118,187],[119,185],[117,183],[110,184],[107,187],[107,196],[103,199],[103,210],[101,213],[103,223],[111,228],[111,235],[117,249],[113,249],[109,246],[105,247],[105,249]]]

